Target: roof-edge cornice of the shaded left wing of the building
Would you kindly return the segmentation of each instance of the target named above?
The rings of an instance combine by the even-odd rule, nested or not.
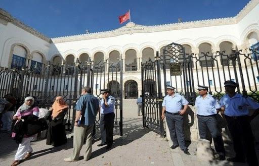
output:
[[[47,36],[45,36],[44,34],[36,31],[35,29],[25,25],[24,23],[22,23],[21,21],[15,19],[14,17],[12,17],[7,11],[3,10],[0,8],[0,23],[7,25],[8,23],[14,24],[15,26],[31,33],[32,35],[41,38],[42,40],[45,40],[49,43],[52,43],[51,39],[48,38]]]

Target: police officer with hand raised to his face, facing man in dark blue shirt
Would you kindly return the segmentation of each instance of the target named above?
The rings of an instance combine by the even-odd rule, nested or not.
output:
[[[101,120],[101,140],[102,142],[97,146],[107,144],[106,149],[110,149],[113,143],[113,126],[114,126],[114,103],[115,99],[111,96],[109,89],[102,89],[103,98],[100,103]]]

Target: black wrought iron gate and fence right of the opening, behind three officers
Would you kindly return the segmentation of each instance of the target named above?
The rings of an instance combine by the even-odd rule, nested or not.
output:
[[[142,64],[143,126],[164,136],[161,104],[167,84],[194,104],[198,84],[209,86],[209,93],[221,98],[225,93],[224,82],[233,80],[239,84],[237,92],[259,102],[259,48],[244,52],[198,55],[186,54],[181,44],[164,46],[160,56],[156,53],[154,62]]]

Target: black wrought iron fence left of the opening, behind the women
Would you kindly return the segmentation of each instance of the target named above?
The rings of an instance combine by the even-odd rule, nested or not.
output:
[[[106,69],[107,68],[107,69]],[[11,93],[18,101],[23,101],[26,96],[33,96],[39,107],[49,108],[55,97],[61,95],[69,105],[67,126],[72,130],[71,122],[74,121],[75,102],[84,86],[90,86],[93,94],[101,99],[100,89],[111,88],[115,97],[115,129],[122,135],[122,61],[117,63],[98,63],[93,65],[89,61],[75,65],[42,65],[35,68],[2,69],[0,70],[0,97]],[[108,85],[107,85],[108,83]],[[96,126],[99,126],[98,115]]]

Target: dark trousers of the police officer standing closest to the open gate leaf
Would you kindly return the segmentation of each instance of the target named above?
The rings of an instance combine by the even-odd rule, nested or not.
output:
[[[172,144],[180,146],[182,150],[186,150],[186,144],[184,139],[184,118],[181,115],[172,115],[165,112],[166,123],[170,132]]]

